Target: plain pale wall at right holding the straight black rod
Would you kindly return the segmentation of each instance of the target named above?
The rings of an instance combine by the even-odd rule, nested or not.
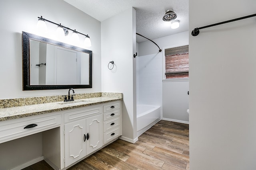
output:
[[[189,32],[255,9],[255,0],[190,0]],[[255,47],[255,17],[190,34],[190,170],[256,169]]]

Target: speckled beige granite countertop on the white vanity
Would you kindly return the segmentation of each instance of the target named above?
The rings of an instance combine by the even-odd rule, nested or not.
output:
[[[73,109],[118,100],[122,100],[122,97],[95,97],[74,100],[72,102],[52,102],[44,104],[33,104],[27,106],[1,108],[0,121],[17,119],[20,117],[28,117],[32,115],[40,115],[44,113]]]

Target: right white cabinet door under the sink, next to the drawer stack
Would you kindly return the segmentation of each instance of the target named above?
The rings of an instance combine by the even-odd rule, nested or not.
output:
[[[86,154],[90,154],[94,150],[102,147],[102,115],[89,117],[86,119],[86,132],[88,141],[86,142]]]

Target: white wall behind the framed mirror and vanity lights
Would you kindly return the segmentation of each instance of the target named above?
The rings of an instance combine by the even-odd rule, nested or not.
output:
[[[76,93],[101,91],[100,21],[88,16],[63,0],[0,1],[0,99],[67,94],[67,90],[22,91],[22,31],[35,33],[38,16],[88,34],[92,41],[93,80],[91,89]],[[46,23],[50,27],[50,23]],[[52,26],[53,27],[53,26]],[[72,31],[70,31],[72,32]]]

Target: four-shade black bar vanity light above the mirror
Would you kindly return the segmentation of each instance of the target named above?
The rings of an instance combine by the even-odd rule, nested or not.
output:
[[[58,25],[58,27],[57,27],[58,32],[59,32],[60,34],[62,34],[61,31],[63,31],[65,36],[68,35],[68,29],[71,30],[71,31],[73,31],[72,39],[73,39],[73,40],[76,39],[76,40],[75,40],[76,42],[79,41],[78,33],[81,34],[81,35],[84,35],[84,36],[85,36],[84,45],[85,45],[86,47],[91,47],[91,46],[92,46],[92,43],[91,43],[91,40],[90,40],[90,37],[88,36],[88,34],[85,35],[85,34],[83,34],[83,33],[80,33],[80,32],[78,32],[78,31],[76,31],[76,29],[70,29],[69,27],[65,27],[65,26],[63,26],[63,25],[61,25],[61,24],[58,24],[58,23],[55,23],[55,22],[46,20],[46,19],[44,19],[42,16],[41,16],[41,17],[38,17],[38,23],[37,23],[37,25],[38,25],[37,27],[38,27],[38,29],[39,29],[40,32],[46,32],[46,31],[47,31],[47,26],[46,26],[45,21],[50,22],[50,23],[55,24],[55,25]],[[62,34],[62,35],[63,35],[63,34]],[[74,35],[74,38],[73,38],[73,35]]]

